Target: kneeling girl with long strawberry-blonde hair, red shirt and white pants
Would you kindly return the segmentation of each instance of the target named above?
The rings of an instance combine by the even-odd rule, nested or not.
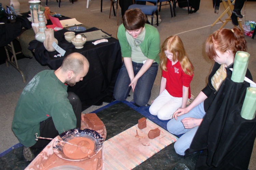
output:
[[[160,92],[149,111],[160,120],[168,120],[177,108],[186,107],[187,100],[191,97],[190,82],[194,76],[194,67],[178,36],[169,36],[163,42],[160,60]]]

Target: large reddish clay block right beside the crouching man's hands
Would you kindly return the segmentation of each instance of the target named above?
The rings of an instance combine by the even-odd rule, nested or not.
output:
[[[95,131],[102,130],[104,128],[103,122],[95,113],[87,113],[84,115],[84,121],[88,124],[89,129]]]

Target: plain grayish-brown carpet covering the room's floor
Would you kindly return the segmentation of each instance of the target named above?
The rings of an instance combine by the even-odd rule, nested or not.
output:
[[[29,4],[27,0],[19,0],[21,12],[29,11]],[[2,0],[1,3],[10,4],[9,0]],[[69,16],[76,18],[78,21],[82,22],[88,27],[97,27],[105,32],[112,34],[113,37],[117,37],[117,20],[114,17],[113,12],[111,13],[111,18],[109,19],[110,11],[110,0],[103,0],[103,11],[100,12],[100,1],[91,0],[89,1],[89,8],[86,8],[86,0],[77,0],[72,5],[69,0],[62,0],[60,8],[55,0],[48,0],[48,7],[52,12],[60,13],[64,16]],[[45,1],[42,1],[42,5]],[[242,18],[242,23],[245,20],[256,21],[255,17],[255,1],[248,1],[243,9],[242,14],[245,16]],[[162,6],[160,14],[161,22],[157,27],[160,33],[161,43],[170,35],[179,35],[183,40],[185,49],[189,55],[191,62],[195,67],[194,79],[191,82],[191,93],[197,96],[201,89],[205,86],[206,78],[211,70],[212,62],[207,59],[204,53],[204,42],[205,39],[213,33],[215,30],[221,27],[222,23],[217,23],[214,27],[211,24],[221,15],[224,11],[224,7],[221,4],[219,9],[219,14],[214,14],[214,9],[212,6],[212,0],[201,0],[199,11],[193,14],[187,13],[185,8],[176,8],[176,17],[171,18],[170,8],[168,5]],[[119,12],[119,24],[122,23],[121,14]],[[232,28],[233,25],[229,22],[226,28]],[[248,68],[253,74],[254,80],[256,80],[256,38],[252,40],[250,37],[246,37],[248,53],[251,54],[250,63]],[[32,77],[41,70],[49,69],[47,66],[41,66],[34,58],[23,58],[18,60],[20,68],[24,71],[27,82],[32,79]],[[154,100],[159,94],[161,72],[158,71],[157,78],[155,80],[151,100]],[[17,138],[11,130],[11,123],[13,119],[13,114],[15,111],[15,106],[19,95],[26,83],[23,83],[20,73],[15,70],[12,66],[6,67],[5,64],[0,65],[0,128],[1,128],[1,138],[0,138],[0,153],[6,149],[12,147],[18,143]],[[132,100],[131,97],[127,100]],[[149,103],[150,103],[149,101]],[[102,106],[106,105],[103,103]],[[84,113],[89,113],[95,109],[102,106],[91,106],[86,109]],[[256,147],[251,157],[251,162],[249,169],[256,169]]]

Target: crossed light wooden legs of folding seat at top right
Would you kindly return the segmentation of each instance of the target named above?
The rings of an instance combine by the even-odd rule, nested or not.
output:
[[[212,27],[218,22],[218,21],[221,21],[223,24],[221,26],[221,28],[224,28],[226,26],[226,24],[231,21],[231,14],[232,14],[232,11],[234,9],[234,4],[235,3],[235,0],[234,1],[230,1],[230,0],[223,0],[222,1],[222,4],[224,5],[224,8],[225,8],[225,11],[221,14],[221,16],[218,17],[218,19],[212,24]],[[222,18],[224,17],[225,14],[228,14],[228,18],[225,19],[225,21],[222,20]],[[242,20],[239,20],[238,19],[238,25],[240,27],[240,29],[242,31],[243,30],[243,27],[242,27],[242,24],[241,24],[241,21]],[[221,29],[220,28],[220,29]]]

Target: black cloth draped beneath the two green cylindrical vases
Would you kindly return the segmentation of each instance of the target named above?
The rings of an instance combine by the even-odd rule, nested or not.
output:
[[[247,170],[256,136],[256,118],[241,117],[246,88],[226,78],[186,151],[201,151],[196,169]]]

